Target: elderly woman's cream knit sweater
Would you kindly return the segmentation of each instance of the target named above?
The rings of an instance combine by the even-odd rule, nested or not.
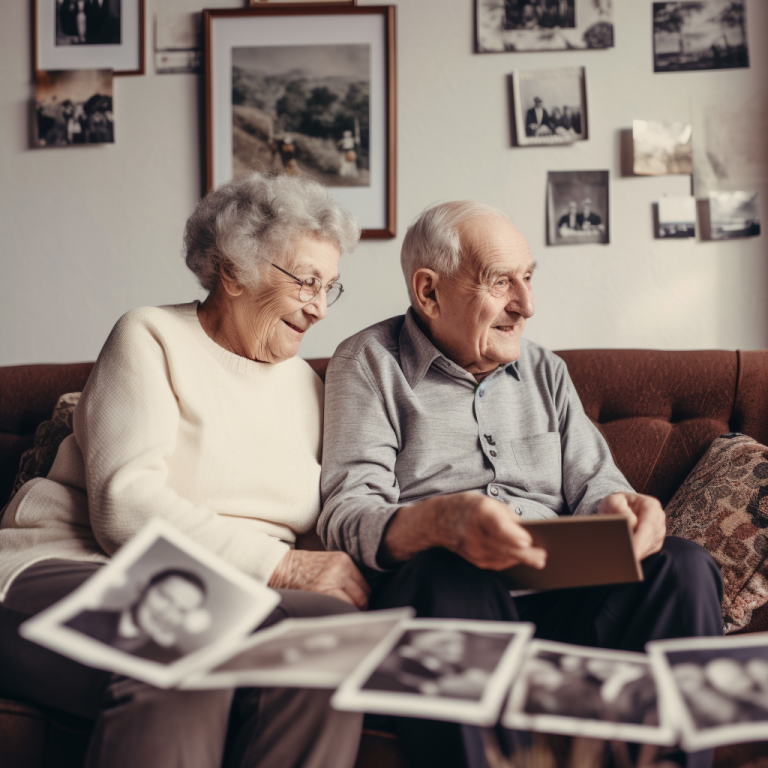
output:
[[[106,561],[155,516],[267,581],[320,512],[322,409],[307,363],[228,352],[197,302],[128,312],[48,477],[6,509],[0,600],[32,563]]]

